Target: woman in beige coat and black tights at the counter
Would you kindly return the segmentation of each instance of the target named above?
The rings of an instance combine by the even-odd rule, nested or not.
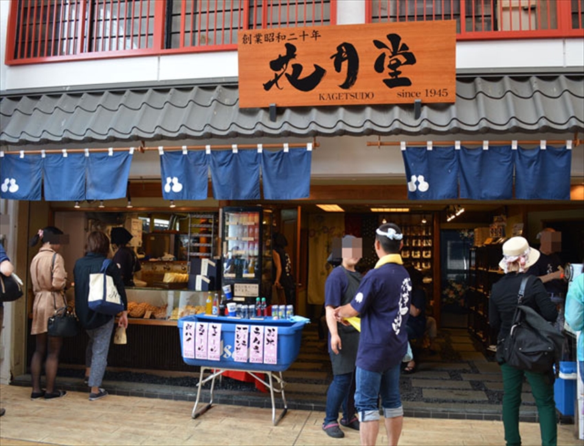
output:
[[[63,338],[47,335],[47,322],[54,315],[55,310],[66,304],[65,285],[67,271],[65,261],[58,254],[60,243],[63,240],[63,231],[53,226],[38,230],[30,241],[34,246],[41,241],[43,245],[30,263],[30,278],[34,291],[32,305],[31,335],[36,340],[36,348],[30,364],[32,377],[31,399],[53,399],[64,397],[65,390],[55,390],[55,379],[59,366],[59,352]],[[41,370],[45,359],[46,389],[41,389]]]

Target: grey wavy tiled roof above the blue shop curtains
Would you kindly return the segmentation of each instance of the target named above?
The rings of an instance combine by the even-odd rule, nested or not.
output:
[[[236,84],[0,96],[0,144],[584,131],[584,76],[458,78],[456,103],[240,109]]]

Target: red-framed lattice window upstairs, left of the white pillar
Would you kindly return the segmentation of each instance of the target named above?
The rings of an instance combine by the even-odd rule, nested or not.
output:
[[[16,0],[8,63],[236,49],[238,30],[334,23],[335,1]]]

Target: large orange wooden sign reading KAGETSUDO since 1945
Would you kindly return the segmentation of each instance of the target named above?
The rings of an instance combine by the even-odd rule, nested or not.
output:
[[[456,21],[238,32],[239,106],[455,102]]]

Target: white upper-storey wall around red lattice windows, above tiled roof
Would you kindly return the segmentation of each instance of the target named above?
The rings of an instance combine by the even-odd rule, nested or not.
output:
[[[9,6],[10,1],[0,1],[0,90],[196,80],[238,75],[236,51],[7,67],[3,61]],[[337,2],[337,23],[365,23],[365,2]],[[489,72],[493,69],[563,69],[583,66],[584,38],[460,41],[456,45],[456,68],[459,70]]]

